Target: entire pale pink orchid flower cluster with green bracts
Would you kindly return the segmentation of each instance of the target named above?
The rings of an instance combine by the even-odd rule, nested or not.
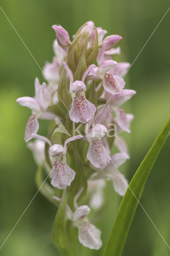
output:
[[[121,108],[136,93],[124,89],[123,77],[130,64],[113,60],[114,55],[120,54],[120,47],[114,46],[122,37],[105,37],[107,31],[95,28],[92,21],[79,28],[72,42],[62,26],[53,25],[52,28],[56,34],[55,56],[52,63],[46,62],[43,68],[47,84],[43,82],[41,85],[36,78],[35,97],[17,99],[21,106],[32,110],[25,141],[36,139],[28,142],[28,146],[37,164],[45,162],[49,167],[53,166],[49,173],[51,185],[59,190],[70,186],[70,194],[73,193],[70,200],[80,189],[77,187],[76,191],[74,187],[71,190],[72,182],[80,176],[79,170],[74,170],[77,154],[85,171],[88,170],[86,194],[90,195],[89,204],[99,210],[105,201],[103,190],[107,180],[113,181],[115,191],[121,196],[128,186],[125,176],[117,168],[129,158],[126,142],[120,134],[123,131],[130,133],[133,119],[132,114]],[[49,120],[52,130],[47,138],[38,135],[38,119]],[[77,148],[74,154],[69,148],[70,143]],[[118,152],[111,154],[114,148]],[[80,182],[79,178],[77,182]],[[60,201],[56,193],[54,198]],[[74,210],[67,205],[66,214],[79,229],[79,241],[98,250],[102,245],[101,231],[87,219],[89,206],[76,206]]]

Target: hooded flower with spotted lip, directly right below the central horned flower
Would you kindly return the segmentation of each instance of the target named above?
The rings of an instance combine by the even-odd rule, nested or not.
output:
[[[107,128],[102,124],[96,124],[89,130],[87,137],[89,140],[89,149],[87,151],[87,159],[95,166],[95,168],[105,168],[110,162],[110,152],[102,142],[102,137],[107,133]]]

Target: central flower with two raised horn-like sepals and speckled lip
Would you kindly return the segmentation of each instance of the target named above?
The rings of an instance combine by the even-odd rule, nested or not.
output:
[[[93,119],[96,112],[96,107],[85,97],[86,86],[84,81],[87,74],[93,67],[95,67],[95,65],[92,64],[89,66],[89,68],[87,68],[85,71],[82,80],[76,80],[75,82],[73,82],[73,74],[65,62],[63,62],[63,66],[70,79],[69,91],[72,97],[72,104],[69,111],[69,117],[75,123],[81,122],[82,124],[86,124],[89,120]]]

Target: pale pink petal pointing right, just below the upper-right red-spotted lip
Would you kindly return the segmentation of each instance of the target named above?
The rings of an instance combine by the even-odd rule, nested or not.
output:
[[[105,92],[105,99],[106,101],[109,100],[109,103],[111,103],[113,106],[121,106],[123,103],[125,103],[127,100],[132,98],[132,96],[136,94],[136,91],[124,89],[122,90],[121,94],[110,94],[109,92]]]

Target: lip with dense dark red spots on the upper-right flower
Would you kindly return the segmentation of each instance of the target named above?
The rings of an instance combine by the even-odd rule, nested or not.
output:
[[[120,76],[112,76],[111,74],[106,73],[103,79],[103,87],[111,94],[119,94],[125,87],[125,81]]]

